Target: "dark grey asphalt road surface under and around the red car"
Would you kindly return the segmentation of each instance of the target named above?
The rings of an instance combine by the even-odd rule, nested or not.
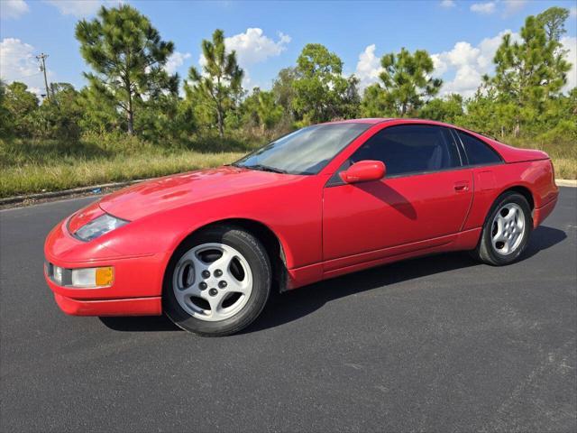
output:
[[[2,431],[577,429],[577,189],[520,263],[356,273],[224,338],[60,313],[42,243],[88,200],[0,212]]]

